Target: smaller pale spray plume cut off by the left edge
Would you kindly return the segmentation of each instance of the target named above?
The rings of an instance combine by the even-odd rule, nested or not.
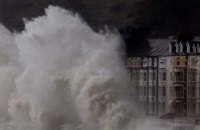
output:
[[[0,117],[8,119],[8,102],[15,91],[14,80],[20,71],[18,50],[14,37],[3,25],[0,25]]]

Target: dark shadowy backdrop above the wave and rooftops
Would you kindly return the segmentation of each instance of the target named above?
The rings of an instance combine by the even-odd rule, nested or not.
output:
[[[200,31],[198,0],[1,0],[0,21],[22,30],[22,18],[42,15],[50,4],[79,12],[94,29],[107,24],[148,27],[160,34]]]

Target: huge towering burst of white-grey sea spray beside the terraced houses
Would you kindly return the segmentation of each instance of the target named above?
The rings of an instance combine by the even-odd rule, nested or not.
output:
[[[0,49],[6,45],[9,59],[0,59],[1,113],[21,130],[135,127],[140,111],[130,97],[119,34],[96,33],[78,14],[59,7],[45,12],[25,21],[20,33],[0,30],[8,37],[0,38]]]

